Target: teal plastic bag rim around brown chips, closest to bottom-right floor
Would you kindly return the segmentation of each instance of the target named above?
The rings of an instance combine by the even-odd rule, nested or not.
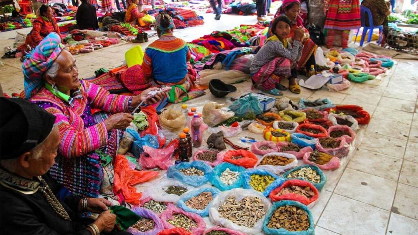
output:
[[[279,228],[279,229],[267,227],[268,222],[270,222],[271,216],[273,215],[275,210],[279,207],[285,207],[287,205],[294,206],[294,207],[297,207],[297,208],[300,208],[300,209],[303,209],[304,211],[306,211],[306,213],[308,214],[308,218],[309,218],[309,228],[308,228],[308,230],[291,232],[291,231],[285,230],[282,227]],[[280,201],[280,202],[275,202],[275,203],[273,203],[273,205],[270,207],[267,214],[265,215],[265,219],[264,219],[264,222],[263,222],[263,230],[264,230],[265,233],[270,234],[270,235],[315,235],[314,217],[312,217],[312,213],[308,209],[308,207],[305,206],[304,204],[300,203],[300,202],[295,202],[295,201],[291,201],[291,200],[283,200],[283,201]]]

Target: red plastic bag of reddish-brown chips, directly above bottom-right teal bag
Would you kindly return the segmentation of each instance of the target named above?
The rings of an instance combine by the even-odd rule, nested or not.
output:
[[[292,186],[292,185],[300,186],[302,188],[310,187],[311,190],[314,191],[315,195],[309,199],[304,195],[295,194],[295,193],[277,195],[278,192],[280,192],[280,190],[284,189],[285,187]],[[280,187],[273,189],[273,191],[270,192],[270,199],[273,202],[277,202],[281,200],[292,200],[292,201],[303,203],[305,205],[309,205],[312,202],[315,202],[316,199],[318,199],[318,197],[319,197],[318,189],[316,189],[316,187],[313,184],[311,184],[311,182],[300,180],[300,179],[286,180]]]

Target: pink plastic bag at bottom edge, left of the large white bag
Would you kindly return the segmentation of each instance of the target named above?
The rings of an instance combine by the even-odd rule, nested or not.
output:
[[[203,221],[200,215],[191,212],[185,212],[184,210],[174,206],[173,204],[168,204],[167,209],[163,213],[161,213],[161,220],[163,221],[163,225],[165,228],[171,229],[174,227],[172,224],[167,222],[167,220],[174,219],[174,214],[183,214],[197,223],[197,227],[191,228],[191,232],[193,235],[202,235],[204,230],[206,229],[206,223]]]

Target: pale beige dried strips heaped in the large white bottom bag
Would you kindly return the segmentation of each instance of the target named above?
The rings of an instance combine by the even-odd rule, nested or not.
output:
[[[245,197],[237,202],[234,196],[230,196],[218,207],[222,218],[250,228],[265,215],[266,210],[259,197]]]

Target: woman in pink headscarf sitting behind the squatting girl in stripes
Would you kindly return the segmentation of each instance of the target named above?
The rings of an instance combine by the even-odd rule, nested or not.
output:
[[[303,26],[303,20],[300,17],[301,2],[299,0],[283,0],[283,4],[277,10],[275,18],[279,15],[286,15],[292,22],[291,33],[288,36],[288,41],[292,41],[294,31],[298,27],[303,27],[305,36],[303,37],[303,51],[301,59],[298,61],[298,70],[305,70],[306,72],[311,68],[311,65],[316,65],[315,52],[318,46],[309,38],[308,30]],[[273,22],[273,21],[272,21]],[[270,23],[271,25],[271,23]],[[271,34],[271,33],[270,33]]]

